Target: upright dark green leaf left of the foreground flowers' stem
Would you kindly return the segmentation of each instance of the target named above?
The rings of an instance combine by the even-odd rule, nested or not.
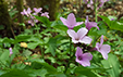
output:
[[[57,49],[57,39],[50,38],[48,41],[49,51],[54,56],[56,55],[56,49]]]

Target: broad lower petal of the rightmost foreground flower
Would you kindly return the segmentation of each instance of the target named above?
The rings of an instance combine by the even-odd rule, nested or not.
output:
[[[102,54],[103,59],[108,59],[108,53],[110,52],[110,46],[109,44],[102,44],[99,52]]]

